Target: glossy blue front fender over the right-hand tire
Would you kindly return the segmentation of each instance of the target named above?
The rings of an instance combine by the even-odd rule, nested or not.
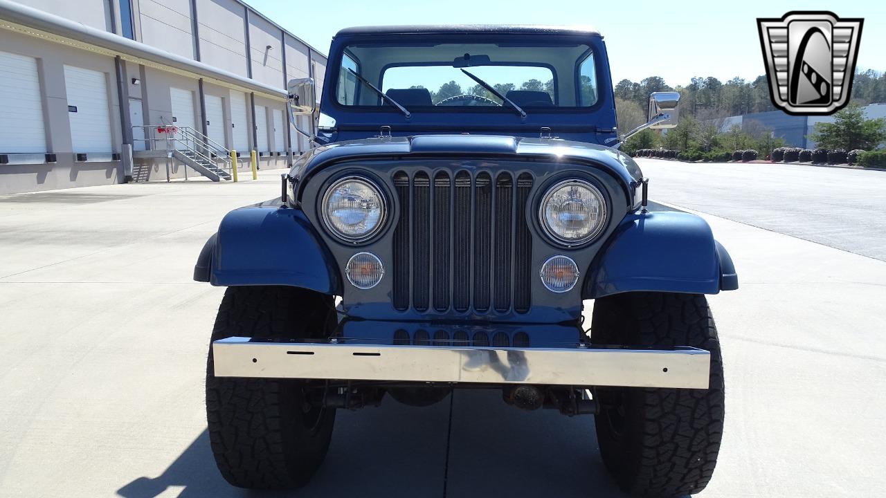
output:
[[[716,294],[738,288],[732,258],[699,216],[629,214],[591,264],[583,299],[620,292]]]

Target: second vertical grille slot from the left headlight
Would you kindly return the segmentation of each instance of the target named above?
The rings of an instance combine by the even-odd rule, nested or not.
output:
[[[431,291],[431,180],[418,173],[412,182],[413,213],[412,246],[415,273],[412,277],[412,306],[427,311]]]

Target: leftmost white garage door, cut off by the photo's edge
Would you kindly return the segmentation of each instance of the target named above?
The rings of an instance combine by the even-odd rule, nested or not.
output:
[[[0,153],[46,152],[37,59],[0,51]]]

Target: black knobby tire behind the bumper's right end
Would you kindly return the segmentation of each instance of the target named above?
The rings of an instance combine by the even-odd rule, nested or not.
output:
[[[606,387],[596,390],[603,463],[637,496],[682,496],[704,489],[723,432],[723,362],[717,328],[702,295],[630,292],[595,301],[591,340],[630,346],[694,346],[711,352],[703,389]]]

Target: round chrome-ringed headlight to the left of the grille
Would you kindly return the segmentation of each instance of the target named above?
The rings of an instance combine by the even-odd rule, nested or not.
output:
[[[367,240],[385,222],[385,198],[369,180],[357,176],[343,178],[323,196],[323,222],[348,242]]]

